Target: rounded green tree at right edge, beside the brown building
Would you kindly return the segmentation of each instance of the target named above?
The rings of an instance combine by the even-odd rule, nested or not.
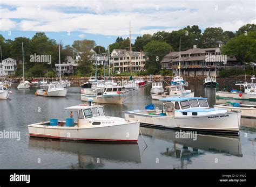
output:
[[[240,34],[238,37],[230,39],[221,48],[223,54],[235,57],[241,62],[256,61],[256,31],[251,31],[248,35]]]

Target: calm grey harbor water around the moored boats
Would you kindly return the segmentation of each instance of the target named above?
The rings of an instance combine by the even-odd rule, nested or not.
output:
[[[195,96],[207,97],[211,106],[225,102],[215,101],[215,91],[221,88],[191,85],[189,89]],[[0,100],[0,131],[21,132],[20,141],[1,139],[1,169],[256,169],[255,119],[241,119],[239,136],[198,134],[197,140],[176,139],[174,131],[142,127],[147,148],[142,136],[129,145],[29,138],[28,124],[53,117],[64,120],[69,114],[64,107],[82,103],[78,87],[69,88],[67,98],[36,97],[35,90],[14,87],[10,99]],[[124,117],[123,111],[150,103],[162,106],[151,100],[150,87],[133,93],[123,105],[105,105],[106,114]]]

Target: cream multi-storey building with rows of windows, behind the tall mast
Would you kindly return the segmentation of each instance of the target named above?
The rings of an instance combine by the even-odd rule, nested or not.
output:
[[[145,70],[146,56],[143,51],[132,51],[130,54],[130,52],[125,49],[113,49],[110,56],[115,72],[129,72],[131,67],[132,71]],[[130,64],[130,58],[132,64]]]

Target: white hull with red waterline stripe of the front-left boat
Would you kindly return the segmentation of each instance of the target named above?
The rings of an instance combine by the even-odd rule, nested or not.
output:
[[[65,121],[59,121],[59,123],[65,123]],[[110,142],[137,142],[139,136],[139,121],[82,128],[47,126],[46,124],[49,124],[49,121],[28,125],[29,135],[62,140]]]

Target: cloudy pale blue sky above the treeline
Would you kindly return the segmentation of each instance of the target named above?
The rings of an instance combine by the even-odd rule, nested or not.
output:
[[[256,1],[221,0],[1,0],[0,34],[6,39],[32,38],[45,32],[50,39],[72,45],[74,40],[95,40],[108,46],[117,37],[157,31],[171,32],[187,25],[237,31],[256,24]]]

